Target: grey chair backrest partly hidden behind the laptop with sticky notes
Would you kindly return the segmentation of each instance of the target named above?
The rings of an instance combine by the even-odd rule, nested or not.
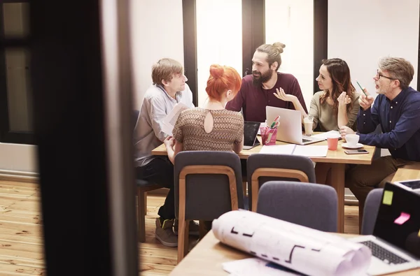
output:
[[[383,193],[384,189],[373,189],[367,194],[365,209],[363,210],[362,235],[373,234],[374,224],[377,219]]]

